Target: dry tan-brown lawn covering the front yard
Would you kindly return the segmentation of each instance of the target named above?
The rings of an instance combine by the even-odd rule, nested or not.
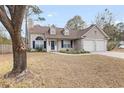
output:
[[[23,81],[3,79],[12,55],[0,55],[0,87],[124,87],[124,60],[100,55],[28,53],[32,74]]]

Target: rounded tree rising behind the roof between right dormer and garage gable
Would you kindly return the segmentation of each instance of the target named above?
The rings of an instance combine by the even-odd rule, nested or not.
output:
[[[67,27],[69,27],[72,30],[82,30],[85,27],[85,22],[82,20],[81,16],[74,16],[72,19],[70,19],[67,24]]]

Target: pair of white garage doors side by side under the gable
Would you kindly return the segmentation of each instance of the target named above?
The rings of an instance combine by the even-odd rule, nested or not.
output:
[[[106,51],[105,40],[84,40],[83,49],[85,51]]]

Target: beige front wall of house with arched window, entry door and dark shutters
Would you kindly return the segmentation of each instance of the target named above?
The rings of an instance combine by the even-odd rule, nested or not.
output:
[[[76,40],[72,39],[45,39],[42,36],[35,36],[31,40],[31,51],[45,50],[47,52],[57,52],[66,49],[75,49]]]

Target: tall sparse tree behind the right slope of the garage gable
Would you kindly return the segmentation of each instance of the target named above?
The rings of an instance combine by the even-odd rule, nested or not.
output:
[[[114,22],[112,12],[105,9],[103,13],[99,13],[95,18],[95,24],[103,29],[110,37],[110,41],[119,41],[119,31]]]

